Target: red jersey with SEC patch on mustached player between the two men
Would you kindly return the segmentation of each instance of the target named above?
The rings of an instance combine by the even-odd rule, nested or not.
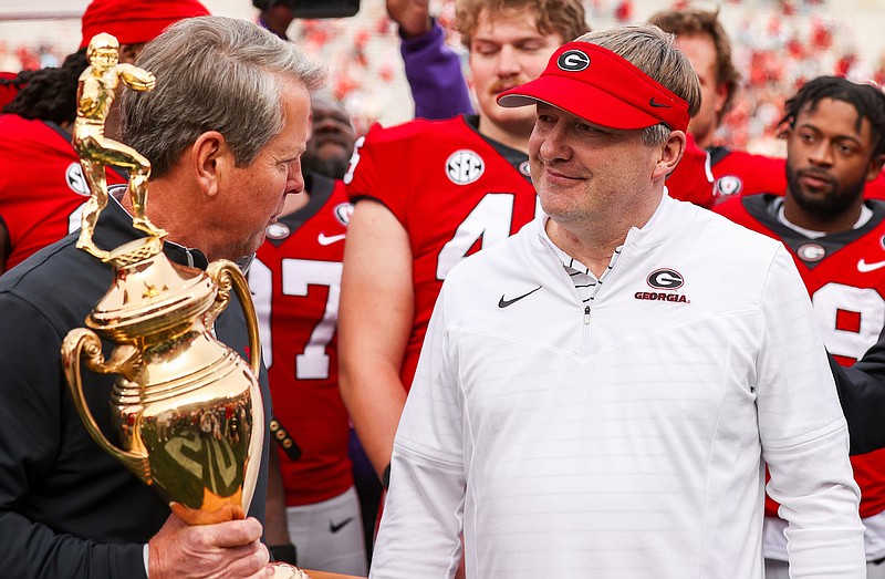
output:
[[[400,369],[408,390],[448,271],[533,219],[528,156],[487,139],[462,116],[374,125],[357,141],[344,182],[351,199],[383,203],[409,236],[415,319]]]

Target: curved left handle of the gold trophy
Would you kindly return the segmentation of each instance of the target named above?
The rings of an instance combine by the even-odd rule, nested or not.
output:
[[[112,371],[112,366],[107,366],[104,363],[102,341],[95,332],[86,328],[77,328],[67,332],[64,342],[62,342],[62,365],[64,368],[64,378],[67,382],[67,387],[74,399],[74,405],[83,421],[83,425],[86,427],[90,436],[92,436],[92,440],[95,441],[95,444],[123,463],[123,465],[132,471],[138,478],[150,484],[150,467],[147,462],[147,456],[121,451],[111,444],[101,428],[98,428],[98,424],[95,422],[95,417],[92,415],[83,397],[83,381],[80,375],[81,358],[85,358],[86,365],[96,372],[108,373]],[[117,364],[113,364],[113,366],[117,366]]]

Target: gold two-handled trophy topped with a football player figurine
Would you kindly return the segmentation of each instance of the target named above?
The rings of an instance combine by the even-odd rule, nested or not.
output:
[[[258,480],[264,438],[259,390],[258,322],[246,280],[227,260],[206,271],[171,262],[166,232],[145,216],[149,162],[104,136],[104,121],[118,80],[154,87],[154,75],[117,64],[118,43],[98,34],[87,49],[91,66],[80,77],[73,143],[91,188],[77,247],[108,263],[114,282],[62,344],[65,379],[93,440],[154,487],[191,525],[243,518]],[[148,234],[106,251],[92,240],[107,203],[105,166],[129,169],[133,226]],[[216,340],[212,322],[230,291],[243,309],[250,362]],[[102,340],[114,349],[105,358]],[[122,447],[101,432],[83,397],[81,364],[116,374],[112,422]]]

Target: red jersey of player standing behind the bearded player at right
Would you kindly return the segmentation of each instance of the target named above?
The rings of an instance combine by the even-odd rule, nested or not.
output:
[[[710,168],[716,204],[736,195],[787,195],[787,159],[716,147],[710,149]],[[864,197],[885,199],[885,173],[866,184]]]

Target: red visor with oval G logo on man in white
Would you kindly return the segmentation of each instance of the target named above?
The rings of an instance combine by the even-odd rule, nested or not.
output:
[[[610,128],[688,127],[688,103],[626,59],[590,42],[560,46],[534,81],[498,95],[501,106],[546,103]]]

